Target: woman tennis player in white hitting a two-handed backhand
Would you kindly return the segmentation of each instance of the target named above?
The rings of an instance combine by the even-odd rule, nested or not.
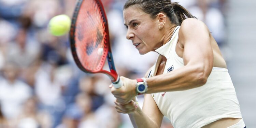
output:
[[[245,128],[226,62],[203,22],[170,0],[127,0],[123,16],[139,53],[159,57],[145,78],[120,77],[124,86],[112,87],[117,112],[139,128],[160,127],[163,116],[174,128]],[[142,110],[132,100],[140,94]]]

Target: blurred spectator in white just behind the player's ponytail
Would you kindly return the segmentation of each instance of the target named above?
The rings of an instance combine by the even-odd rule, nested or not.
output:
[[[188,8],[189,12],[203,21],[211,31],[212,36],[221,47],[225,43],[225,19],[220,10],[210,6],[210,0],[196,0],[196,6]]]

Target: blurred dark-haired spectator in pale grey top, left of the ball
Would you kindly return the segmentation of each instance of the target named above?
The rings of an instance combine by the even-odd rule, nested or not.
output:
[[[38,42],[30,36],[31,19],[21,15],[17,21],[19,27],[16,37],[14,41],[8,42],[5,54],[7,61],[14,61],[25,70],[38,58],[40,47]]]

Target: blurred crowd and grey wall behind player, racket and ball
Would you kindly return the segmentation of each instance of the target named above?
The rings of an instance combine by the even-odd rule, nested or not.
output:
[[[0,0],[0,128],[130,128],[103,74],[80,71],[69,37],[49,34],[49,20],[72,16],[76,0]],[[125,0],[102,0],[120,76],[143,77],[157,54],[140,55],[125,38]],[[242,116],[256,126],[254,0],[173,0],[209,27],[228,64]],[[139,97],[142,106],[143,96]],[[171,128],[163,119],[162,128]]]

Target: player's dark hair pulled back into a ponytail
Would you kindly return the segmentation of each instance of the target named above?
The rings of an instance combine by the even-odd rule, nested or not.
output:
[[[170,0],[127,0],[124,10],[132,5],[138,6],[142,11],[150,14],[151,18],[156,18],[158,13],[164,12],[176,25],[181,25],[186,18],[196,18],[179,3]]]

